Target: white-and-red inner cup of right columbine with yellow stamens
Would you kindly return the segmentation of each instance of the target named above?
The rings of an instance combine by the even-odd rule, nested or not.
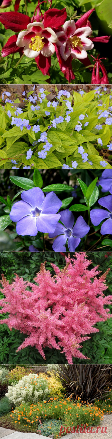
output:
[[[87,50],[93,49],[94,44],[88,36],[91,36],[92,29],[84,26],[76,29],[74,20],[64,23],[62,31],[56,32],[58,37],[57,46],[59,46],[60,54],[64,61],[72,56],[72,58],[87,58]]]

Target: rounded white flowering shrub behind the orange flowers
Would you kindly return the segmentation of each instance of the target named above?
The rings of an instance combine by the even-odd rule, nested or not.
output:
[[[5,394],[11,403],[18,405],[19,403],[35,403],[38,399],[45,399],[50,393],[47,381],[38,377],[38,374],[25,375],[17,384],[12,383],[8,386],[8,392]]]

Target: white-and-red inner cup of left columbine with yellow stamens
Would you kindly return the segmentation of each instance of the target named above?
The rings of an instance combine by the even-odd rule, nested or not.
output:
[[[24,47],[23,52],[28,58],[36,58],[42,53],[43,56],[49,57],[55,52],[55,46],[58,40],[56,33],[49,27],[39,22],[29,23],[27,29],[18,35],[16,42],[18,47]]]

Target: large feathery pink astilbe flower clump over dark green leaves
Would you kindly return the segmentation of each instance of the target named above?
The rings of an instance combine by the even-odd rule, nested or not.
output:
[[[45,346],[63,349],[61,352],[70,364],[73,356],[88,358],[79,350],[81,343],[89,338],[88,334],[98,332],[96,322],[112,317],[109,308],[104,309],[104,305],[112,302],[112,296],[103,293],[108,288],[107,272],[99,277],[98,266],[88,270],[91,261],[84,252],[75,253],[75,258],[68,255],[63,270],[51,264],[54,276],[45,270],[45,263],[41,264],[35,284],[16,275],[10,285],[2,277],[1,291],[5,297],[0,300],[0,312],[8,312],[9,317],[0,323],[27,335],[18,350],[35,346],[45,359]]]

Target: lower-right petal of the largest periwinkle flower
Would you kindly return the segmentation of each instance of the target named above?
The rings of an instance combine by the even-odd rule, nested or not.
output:
[[[56,225],[60,219],[59,213],[51,213],[47,215],[43,212],[40,213],[40,216],[37,217],[36,225],[39,232],[43,233],[53,233],[56,229]]]

